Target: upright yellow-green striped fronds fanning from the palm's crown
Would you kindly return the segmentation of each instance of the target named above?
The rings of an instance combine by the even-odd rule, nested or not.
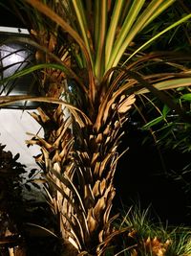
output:
[[[127,4],[125,1],[121,0],[110,4],[110,1],[105,0],[100,1],[100,3],[99,1],[92,3],[91,10],[87,8],[83,1],[68,1],[66,4],[67,8],[71,11],[74,10],[74,15],[71,16],[74,22],[71,21],[71,25],[64,20],[64,15],[60,17],[41,2],[31,0],[26,2],[30,3],[32,7],[35,7],[40,12],[43,12],[74,38],[82,50],[83,58],[86,59],[85,66],[88,65],[88,70],[90,72],[92,70],[95,77],[100,80],[107,70],[117,66],[121,57],[128,51],[128,46],[133,42],[135,36],[175,1],[153,0],[149,4],[146,1],[134,1],[126,9],[125,6]],[[91,13],[88,14],[87,12]],[[91,20],[91,18],[94,18],[93,12],[96,15],[94,26],[93,20]],[[126,12],[125,15],[123,12]],[[125,16],[123,20],[121,20],[121,13]],[[106,18],[108,15],[111,16],[111,19]],[[90,17],[89,22],[87,17]],[[156,40],[160,35],[163,35],[189,18],[190,15],[188,14],[162,32],[159,32],[159,34],[153,36],[138,48],[133,55],[136,55],[144,46]],[[95,32],[96,35],[93,36],[92,32]],[[132,57],[131,55],[130,58]],[[94,86],[94,84],[92,85]],[[94,92],[92,93],[94,94]]]

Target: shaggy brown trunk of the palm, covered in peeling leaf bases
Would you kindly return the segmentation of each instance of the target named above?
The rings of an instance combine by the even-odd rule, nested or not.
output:
[[[97,111],[94,123],[80,116],[66,119],[61,105],[46,113],[39,108],[39,115],[32,114],[46,132],[45,138],[35,135],[28,144],[41,147],[42,155],[36,161],[48,181],[58,234],[66,245],[72,244],[76,255],[102,255],[119,232],[111,226],[115,218],[110,218],[116,194],[117,146],[134,101],[134,96],[121,96],[102,116]],[[66,250],[64,255],[75,255],[74,251],[70,254],[69,244]]]

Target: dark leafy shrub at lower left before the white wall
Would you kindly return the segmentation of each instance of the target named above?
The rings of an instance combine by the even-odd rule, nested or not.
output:
[[[26,166],[18,162],[19,153],[12,156],[5,147],[0,144],[0,255],[24,256],[26,248],[29,255],[36,255],[33,246],[43,246],[38,248],[39,256],[58,255],[54,251],[55,247],[58,249],[58,240],[46,229],[53,228],[53,215],[47,203],[23,198],[24,187],[29,191],[40,188],[38,183],[42,179],[36,177],[39,171],[27,172]],[[50,246],[44,247],[47,241]]]

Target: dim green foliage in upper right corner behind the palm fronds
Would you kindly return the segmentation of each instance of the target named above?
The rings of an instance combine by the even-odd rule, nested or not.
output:
[[[188,1],[176,1],[167,12],[161,13],[148,27],[146,27],[141,35],[137,37],[136,43],[142,44],[144,40],[150,39],[159,31],[176,22],[177,19],[190,13],[191,5]],[[191,23],[188,20],[184,24],[180,24],[177,28],[168,31],[165,35],[161,35],[156,44],[151,44],[144,49],[144,52],[151,51],[173,51],[173,52],[189,52],[190,50],[190,30]]]

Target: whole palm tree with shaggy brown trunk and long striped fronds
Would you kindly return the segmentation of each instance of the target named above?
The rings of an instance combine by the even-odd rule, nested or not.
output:
[[[36,48],[37,63],[2,82],[34,72],[44,96],[1,97],[1,105],[24,99],[41,103],[39,114],[32,117],[45,136],[34,134],[27,143],[42,151],[36,162],[47,179],[64,255],[103,255],[113,238],[128,230],[112,226],[117,216],[111,217],[111,210],[114,175],[123,153],[117,149],[136,94],[151,91],[188,119],[160,91],[189,85],[188,69],[174,63],[175,54],[141,51],[191,14],[141,45],[136,41],[145,28],[154,29],[154,20],[175,2],[13,1],[17,12],[26,13],[32,35],[17,40]],[[173,71],[144,74],[145,66],[159,62]]]

